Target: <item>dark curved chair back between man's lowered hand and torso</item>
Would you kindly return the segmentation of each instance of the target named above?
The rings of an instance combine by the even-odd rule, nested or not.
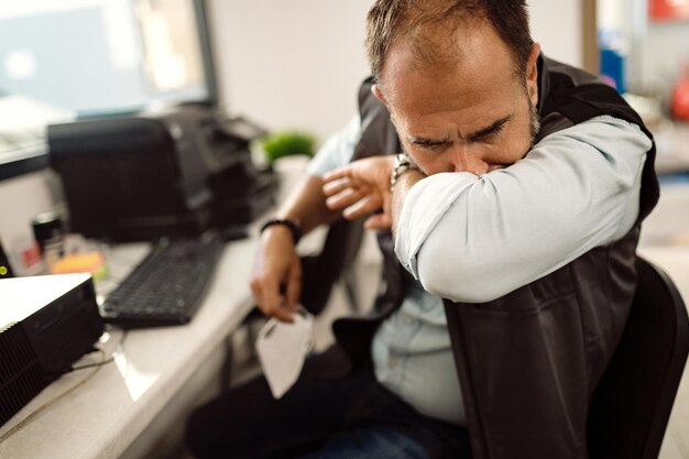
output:
[[[326,307],[332,286],[352,266],[362,239],[362,220],[341,219],[328,229],[320,253],[302,258],[300,302],[311,314]]]

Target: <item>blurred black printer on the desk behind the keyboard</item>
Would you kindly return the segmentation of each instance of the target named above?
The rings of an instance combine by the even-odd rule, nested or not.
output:
[[[249,150],[263,134],[204,103],[48,125],[69,230],[113,241],[236,233],[273,204],[276,178]]]

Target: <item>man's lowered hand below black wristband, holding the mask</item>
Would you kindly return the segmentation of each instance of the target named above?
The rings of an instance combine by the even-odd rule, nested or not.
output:
[[[302,289],[302,265],[292,232],[272,226],[261,238],[251,276],[256,306],[269,317],[292,323]]]

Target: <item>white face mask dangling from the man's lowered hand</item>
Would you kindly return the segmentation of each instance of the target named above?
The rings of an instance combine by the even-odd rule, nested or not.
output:
[[[303,307],[294,323],[270,319],[259,331],[256,352],[275,398],[282,397],[299,378],[313,345],[313,316]]]

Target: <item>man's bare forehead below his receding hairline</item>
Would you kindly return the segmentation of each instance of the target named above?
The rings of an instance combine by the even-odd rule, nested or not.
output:
[[[439,44],[435,56],[434,50],[419,52],[434,44]],[[387,53],[381,80],[396,118],[450,112],[500,118],[495,111],[508,110],[515,92],[523,92],[507,46],[484,22],[452,33],[438,29],[423,40],[401,37]]]

